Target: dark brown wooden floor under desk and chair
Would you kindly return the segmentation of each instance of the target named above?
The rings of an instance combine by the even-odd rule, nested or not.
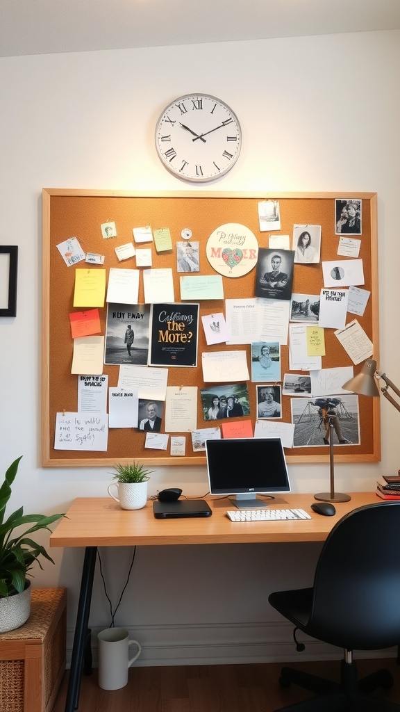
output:
[[[295,663],[298,669],[336,680],[340,661]],[[394,676],[389,691],[377,697],[400,702],[400,666],[395,659],[359,660],[360,675],[386,667]],[[281,664],[142,667],[130,670],[129,682],[107,692],[98,686],[97,670],[83,676],[79,712],[273,712],[311,696],[293,685],[280,689]],[[64,712],[68,671],[53,712]]]

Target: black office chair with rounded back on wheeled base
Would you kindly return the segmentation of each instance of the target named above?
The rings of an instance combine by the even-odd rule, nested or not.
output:
[[[279,712],[400,711],[394,702],[369,696],[392,686],[389,671],[359,680],[352,655],[354,649],[380,650],[399,643],[399,534],[400,501],[359,507],[344,515],[325,541],[312,588],[270,594],[270,604],[296,628],[344,648],[340,684],[284,667],[280,686],[295,682],[318,696]]]

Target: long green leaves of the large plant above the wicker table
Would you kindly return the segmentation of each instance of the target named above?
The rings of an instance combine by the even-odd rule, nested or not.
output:
[[[22,456],[21,456],[22,457]],[[26,576],[35,561],[43,569],[39,556],[45,557],[48,561],[53,559],[48,555],[46,549],[37,544],[27,535],[47,529],[49,524],[63,517],[63,514],[53,514],[46,517],[42,514],[23,514],[23,507],[17,509],[4,520],[6,506],[11,497],[11,485],[14,482],[18,471],[19,461],[16,459],[6,471],[4,482],[0,487],[0,597],[5,598],[16,593],[21,593],[26,587]],[[14,530],[26,524],[32,524],[23,533],[11,538]]]

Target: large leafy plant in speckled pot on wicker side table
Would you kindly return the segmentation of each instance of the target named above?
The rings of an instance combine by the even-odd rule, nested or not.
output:
[[[23,514],[23,507],[17,509],[5,519],[6,506],[11,497],[11,485],[14,482],[21,457],[16,459],[6,471],[0,487],[0,633],[19,628],[31,612],[31,576],[30,570],[35,561],[42,567],[39,557],[48,561],[53,559],[46,549],[33,541],[28,535],[63,517],[53,514]],[[26,528],[26,525],[29,525]],[[21,530],[21,528],[23,528]],[[16,531],[18,530],[18,531]]]

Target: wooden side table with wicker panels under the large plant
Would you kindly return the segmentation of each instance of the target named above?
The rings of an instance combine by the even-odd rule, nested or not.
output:
[[[0,634],[0,712],[51,712],[65,671],[65,588],[32,588],[28,621]]]

